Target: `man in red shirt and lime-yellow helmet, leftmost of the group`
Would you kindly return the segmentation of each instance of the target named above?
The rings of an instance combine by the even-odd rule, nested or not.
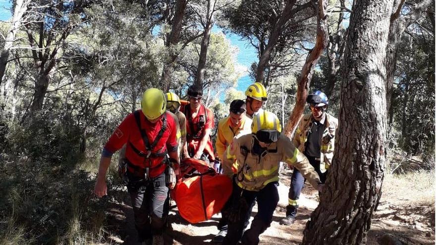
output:
[[[112,154],[127,144],[124,165],[119,174],[127,184],[135,216],[135,227],[142,244],[163,244],[169,189],[175,186],[179,165],[178,123],[166,111],[166,98],[159,89],[144,92],[142,109],[128,115],[103,148],[94,193],[107,195],[106,172]],[[166,155],[170,159],[166,160]]]

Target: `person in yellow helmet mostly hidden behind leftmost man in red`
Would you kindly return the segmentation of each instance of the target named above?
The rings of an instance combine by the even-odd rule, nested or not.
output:
[[[186,117],[185,114],[183,114],[180,109],[180,98],[172,93],[168,92],[166,93],[166,109],[171,111],[178,119],[179,121],[179,129],[180,129],[180,138],[178,140],[178,146],[179,146],[179,154],[181,155],[181,151],[185,149],[185,143],[186,143]],[[187,155],[188,152],[185,152],[185,155]]]

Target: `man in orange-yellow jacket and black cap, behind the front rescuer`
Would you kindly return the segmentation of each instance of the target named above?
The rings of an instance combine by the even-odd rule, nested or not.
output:
[[[251,133],[252,120],[245,113],[245,102],[241,99],[235,99],[230,103],[229,115],[218,122],[218,137],[215,143],[217,153],[214,166],[218,173],[222,171],[220,158],[224,155],[225,149],[232,143],[233,139]],[[248,222],[246,222],[246,226],[248,226]],[[222,243],[227,234],[227,219],[225,217],[219,220],[218,230],[218,234],[213,239],[214,243]]]

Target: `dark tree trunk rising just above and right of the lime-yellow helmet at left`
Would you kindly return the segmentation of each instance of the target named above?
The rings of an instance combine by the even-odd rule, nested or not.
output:
[[[185,15],[187,0],[177,0],[174,19],[172,21],[172,28],[169,38],[166,42],[166,47],[169,47],[170,55],[168,62],[163,66],[161,83],[163,92],[168,92],[171,86],[171,73],[174,70],[173,63],[177,59],[177,53],[174,46],[179,42],[180,32],[182,30],[183,16]]]

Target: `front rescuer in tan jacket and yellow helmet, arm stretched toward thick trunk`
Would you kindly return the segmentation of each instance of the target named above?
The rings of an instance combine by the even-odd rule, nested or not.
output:
[[[313,187],[321,191],[320,178],[307,158],[281,134],[277,116],[263,111],[253,118],[252,134],[235,139],[227,147],[223,159],[224,174],[233,176],[231,164],[236,160],[237,174],[234,178],[231,208],[228,209],[228,233],[223,245],[235,245],[243,233],[244,223],[249,218],[249,207],[257,199],[259,211],[250,229],[242,236],[243,245],[259,244],[259,235],[272,222],[272,214],[278,203],[278,169],[280,161],[296,167]]]

